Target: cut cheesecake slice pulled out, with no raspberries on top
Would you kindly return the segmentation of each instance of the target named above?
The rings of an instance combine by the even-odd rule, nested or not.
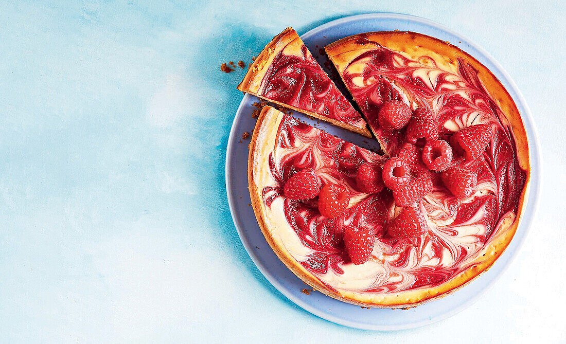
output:
[[[238,89],[371,137],[361,114],[346,100],[292,28],[286,28],[265,46]]]

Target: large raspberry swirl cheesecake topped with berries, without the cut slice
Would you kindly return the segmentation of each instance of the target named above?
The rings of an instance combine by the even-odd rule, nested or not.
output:
[[[530,162],[503,85],[417,33],[327,47],[387,157],[270,107],[248,158],[260,228],[283,263],[333,298],[413,307],[490,268],[517,229]]]

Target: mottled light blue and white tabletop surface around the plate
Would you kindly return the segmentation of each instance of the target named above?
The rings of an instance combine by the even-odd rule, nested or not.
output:
[[[0,3],[0,342],[564,342],[566,8],[561,2]],[[537,123],[541,205],[477,303],[380,333],[321,320],[259,273],[224,186],[244,71],[287,26],[363,12],[483,46]],[[542,292],[541,292],[542,290]]]

